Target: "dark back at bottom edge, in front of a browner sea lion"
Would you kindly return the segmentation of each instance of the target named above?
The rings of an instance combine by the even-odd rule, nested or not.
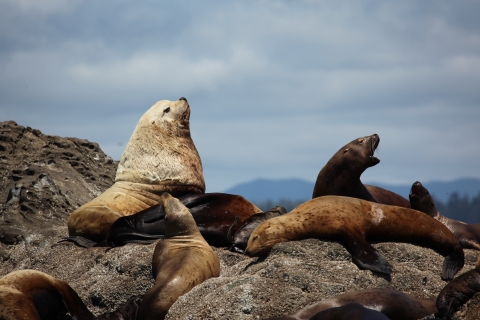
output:
[[[309,320],[390,320],[381,312],[368,309],[358,303],[348,303],[320,311]]]

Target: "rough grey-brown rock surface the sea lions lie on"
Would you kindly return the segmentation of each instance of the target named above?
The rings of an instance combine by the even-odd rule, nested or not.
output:
[[[0,276],[44,271],[67,281],[95,314],[152,286],[155,244],[106,250],[58,243],[68,233],[70,212],[113,184],[116,164],[96,143],[0,123]],[[334,242],[280,243],[261,259],[214,248],[220,277],[180,297],[167,319],[265,319],[346,291],[390,287],[430,297],[445,286],[443,257],[434,251],[409,244],[375,247],[393,265],[391,277],[359,270]],[[478,252],[465,254],[460,273],[473,268]],[[480,319],[480,294],[454,319]]]

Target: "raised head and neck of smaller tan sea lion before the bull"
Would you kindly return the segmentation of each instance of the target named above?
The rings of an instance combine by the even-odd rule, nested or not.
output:
[[[200,235],[190,210],[180,200],[164,192],[160,204],[165,211],[165,239],[175,236]]]

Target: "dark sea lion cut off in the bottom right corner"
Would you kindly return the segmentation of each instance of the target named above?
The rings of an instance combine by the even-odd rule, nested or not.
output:
[[[451,319],[473,295],[480,292],[480,256],[475,268],[450,281],[437,297],[437,317],[443,320]]]

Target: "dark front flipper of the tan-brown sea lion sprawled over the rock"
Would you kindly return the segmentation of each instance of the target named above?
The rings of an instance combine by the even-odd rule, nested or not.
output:
[[[345,232],[342,245],[352,255],[352,262],[360,269],[391,274],[392,266],[375,248],[373,248],[360,232]]]

